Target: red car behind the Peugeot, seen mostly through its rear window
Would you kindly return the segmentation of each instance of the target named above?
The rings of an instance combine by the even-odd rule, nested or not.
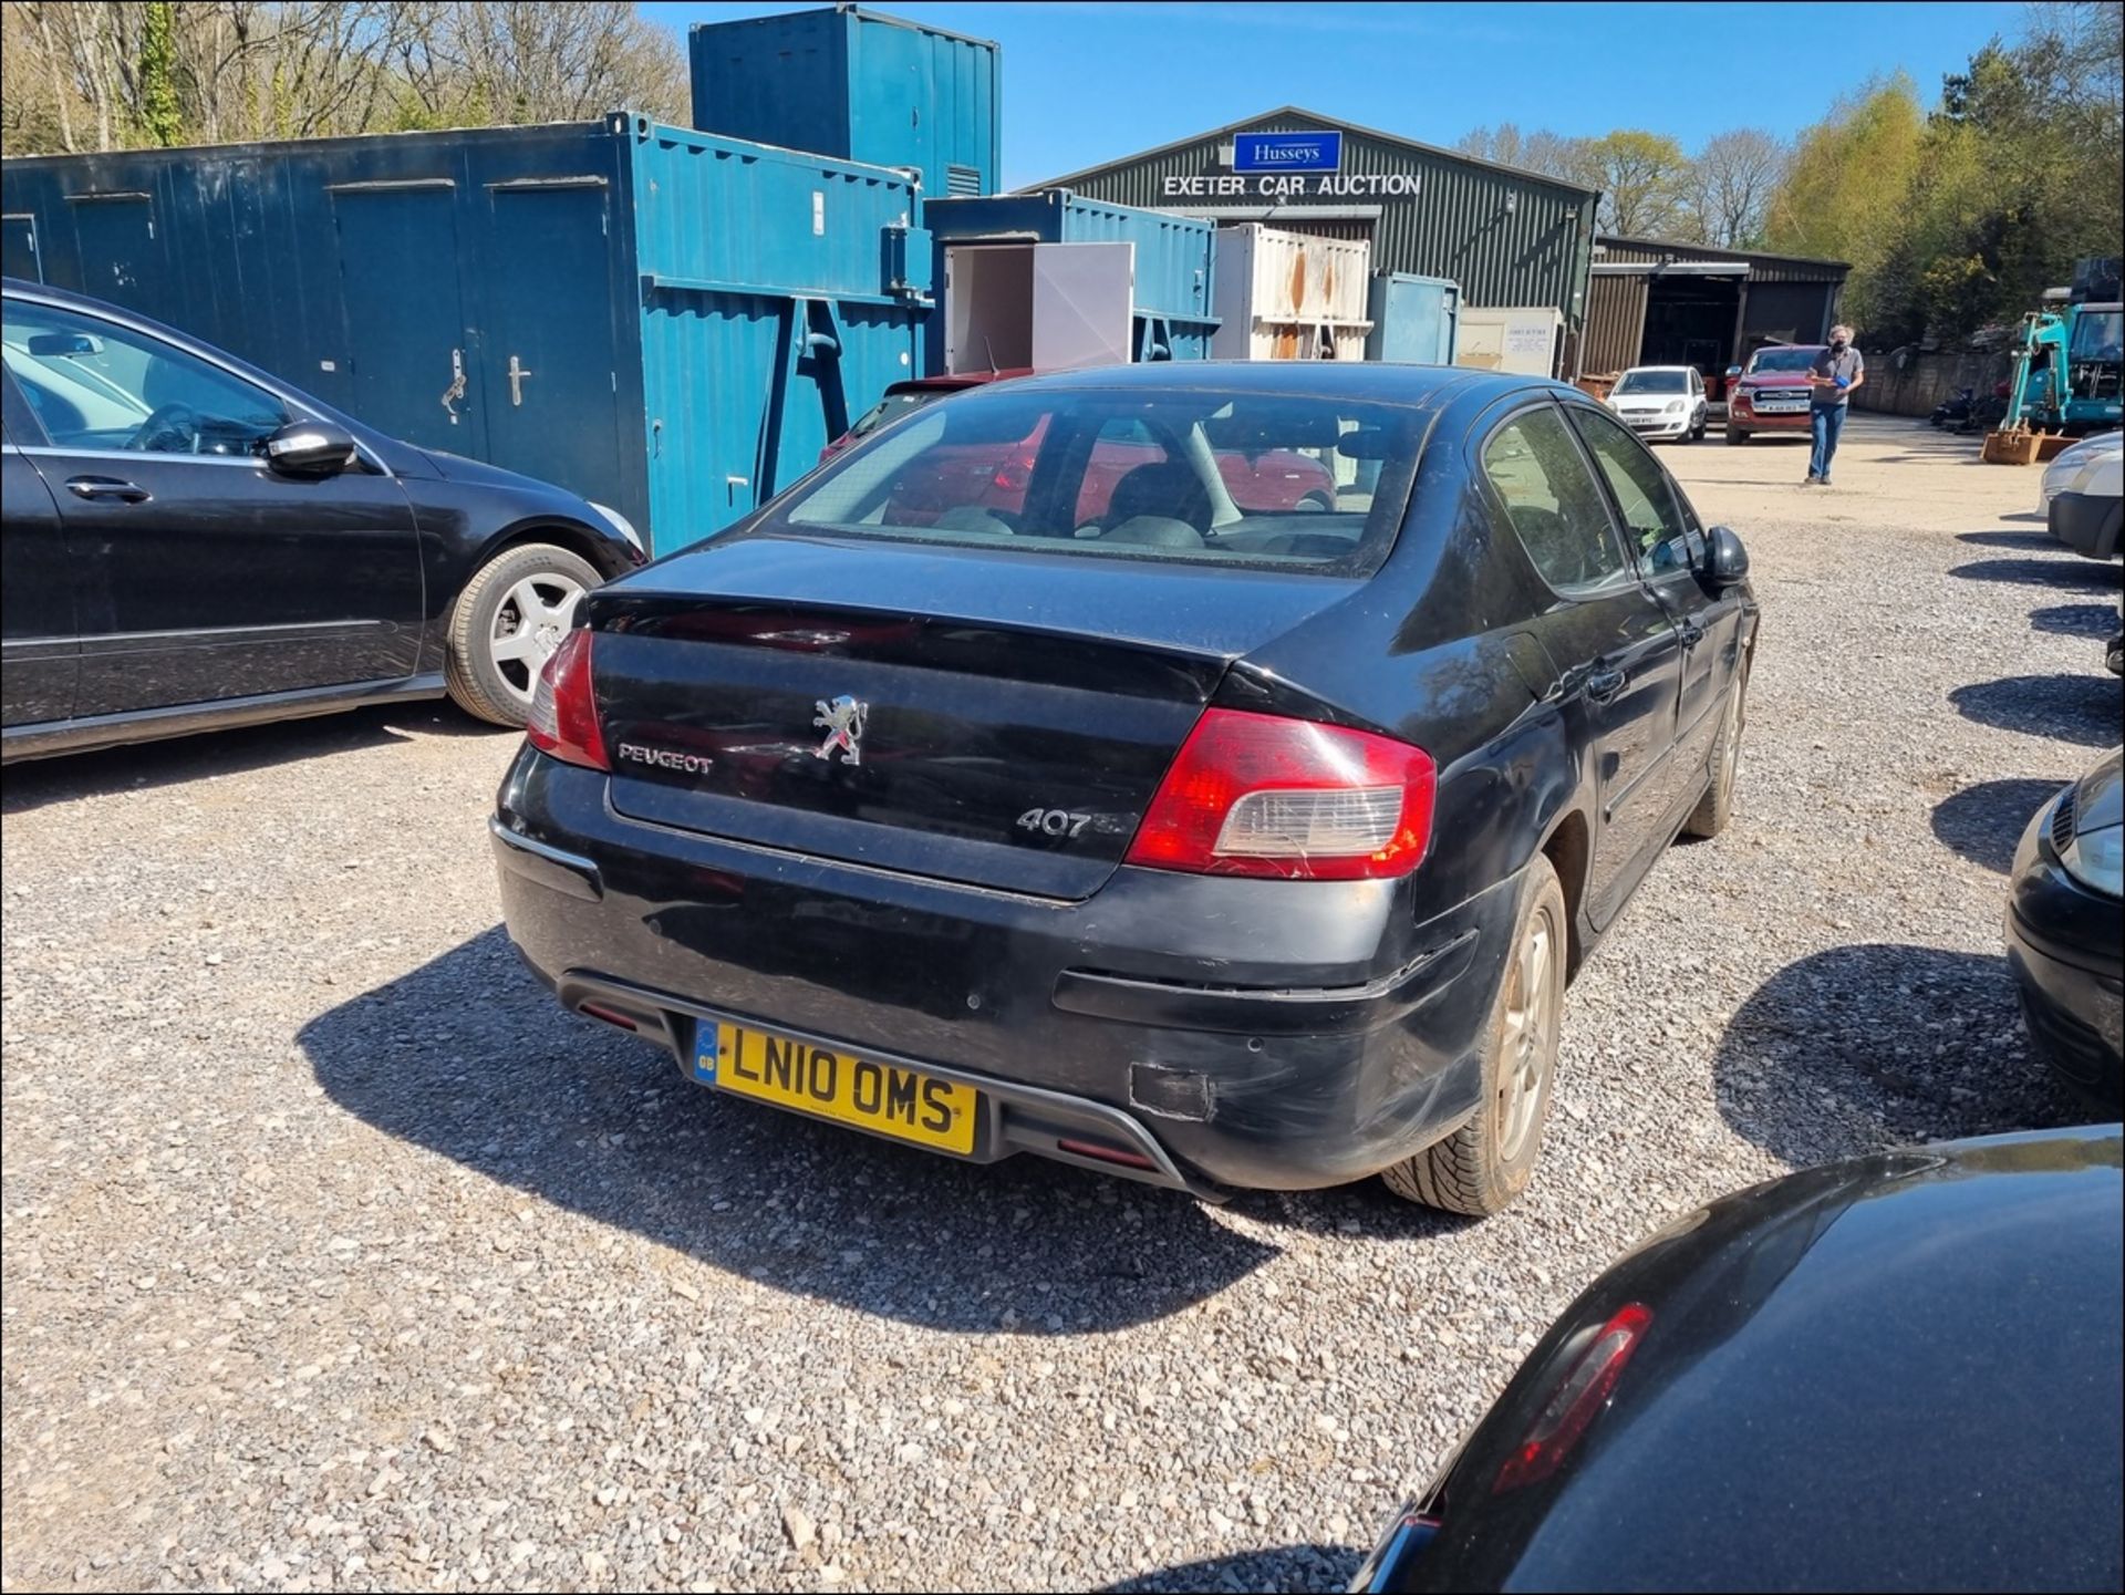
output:
[[[886,397],[869,408],[856,425],[827,444],[820,461],[833,459],[858,438],[865,438],[886,423],[899,421],[935,399],[944,399],[971,387],[1003,382],[1014,376],[1031,376],[1031,372],[1012,370],[965,376],[918,376],[907,382],[895,382],[886,389]],[[1026,505],[1026,478],[1033,469],[1039,444],[1041,433],[1035,429],[1016,444],[958,444],[952,448],[939,448],[935,450],[939,457],[935,476],[922,480],[903,478],[895,484],[890,518],[901,525],[920,527],[933,522],[952,505],[980,505],[984,510],[1018,514]],[[1084,486],[1077,493],[1077,522],[1092,525],[1107,520],[1114,508],[1116,484],[1139,465],[1156,465],[1164,457],[1164,448],[1160,448],[1160,444],[1148,433],[1143,438],[1101,438],[1092,446],[1092,459],[1086,465]],[[1269,448],[1258,455],[1247,455],[1237,448],[1220,448],[1216,450],[1216,459],[1218,474],[1224,478],[1226,491],[1232,495],[1232,503],[1241,510],[1284,512],[1337,508],[1334,476],[1311,455],[1298,455],[1284,448]],[[986,478],[986,482],[969,491],[969,478]]]

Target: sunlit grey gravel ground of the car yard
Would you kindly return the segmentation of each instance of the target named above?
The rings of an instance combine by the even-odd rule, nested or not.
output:
[[[6,775],[4,1582],[1341,1584],[1668,1215],[2080,1117],[2000,958],[2119,739],[2116,567],[1855,421],[1672,448],[1764,601],[1742,816],[1572,988],[1509,1215],[1209,1208],[684,1085],[495,924],[512,739],[366,711]]]

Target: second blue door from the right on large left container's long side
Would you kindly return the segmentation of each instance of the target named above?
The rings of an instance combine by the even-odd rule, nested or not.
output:
[[[332,217],[346,340],[340,370],[319,372],[319,387],[393,438],[484,452],[457,289],[457,185],[342,185],[332,189]]]

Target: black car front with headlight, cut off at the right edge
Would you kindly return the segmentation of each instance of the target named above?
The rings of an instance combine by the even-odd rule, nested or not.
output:
[[[2051,1066],[2125,1107],[2125,771],[2121,752],[2036,811],[2014,852],[2006,956]]]

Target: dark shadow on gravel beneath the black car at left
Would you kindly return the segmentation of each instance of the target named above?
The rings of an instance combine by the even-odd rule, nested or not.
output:
[[[385,703],[346,714],[321,714],[304,720],[278,720],[266,726],[202,731],[193,737],[140,741],[128,748],[106,748],[96,754],[64,754],[8,765],[0,813],[40,809],[47,803],[102,796],[106,792],[151,790],[206,782],[217,775],[242,775],[298,758],[359,752],[423,737],[518,737],[523,733],[489,726],[448,703]]]

